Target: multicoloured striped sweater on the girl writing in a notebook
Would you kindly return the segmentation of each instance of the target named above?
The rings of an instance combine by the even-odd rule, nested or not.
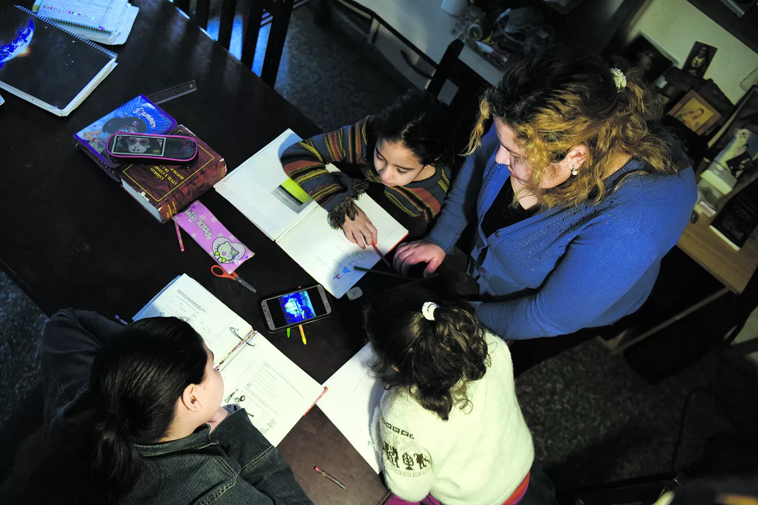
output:
[[[345,215],[356,216],[354,198],[371,182],[381,184],[374,169],[377,138],[371,116],[334,132],[290,145],[281,155],[284,172],[329,212],[329,223],[340,228]],[[328,172],[326,164],[344,162],[343,172]],[[449,167],[437,167],[428,179],[404,186],[385,186],[384,195],[409,216],[431,221],[440,212],[450,187]]]

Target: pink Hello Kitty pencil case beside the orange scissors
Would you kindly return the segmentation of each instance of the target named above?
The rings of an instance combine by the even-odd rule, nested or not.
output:
[[[246,260],[255,256],[254,252],[246,248],[211,214],[208,207],[197,200],[171,219],[189,233],[189,236],[194,238],[226,273],[232,273]]]

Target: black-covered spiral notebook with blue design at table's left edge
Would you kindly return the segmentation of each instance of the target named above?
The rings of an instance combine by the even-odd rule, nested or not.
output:
[[[0,8],[0,88],[67,116],[116,66],[116,54],[18,5]]]

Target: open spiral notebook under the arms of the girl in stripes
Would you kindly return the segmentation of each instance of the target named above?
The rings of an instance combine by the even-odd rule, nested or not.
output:
[[[348,242],[341,229],[332,229],[327,211],[284,173],[280,154],[299,140],[287,129],[214,187],[327,291],[340,298],[364,274],[354,267],[371,268],[380,258],[373,249]],[[327,170],[337,171],[337,167],[327,165]],[[368,195],[361,195],[356,203],[376,226],[381,251],[390,251],[408,235],[408,230]]]

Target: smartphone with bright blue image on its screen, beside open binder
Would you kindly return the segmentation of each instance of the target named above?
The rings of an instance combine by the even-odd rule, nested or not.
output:
[[[261,312],[268,329],[277,332],[326,317],[331,313],[331,307],[324,286],[315,285],[265,298],[261,301]]]

